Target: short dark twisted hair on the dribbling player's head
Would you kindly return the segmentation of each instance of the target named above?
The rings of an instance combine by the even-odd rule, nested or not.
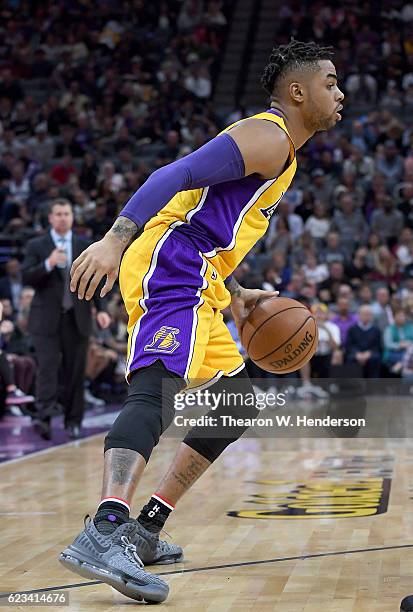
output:
[[[331,59],[333,47],[321,47],[314,42],[302,43],[291,39],[287,45],[274,47],[264,68],[261,84],[269,96],[276,90],[281,78],[290,70],[317,70],[320,60]]]

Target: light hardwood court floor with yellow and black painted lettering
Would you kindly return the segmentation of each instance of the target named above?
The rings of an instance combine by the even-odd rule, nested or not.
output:
[[[135,605],[57,561],[83,515],[95,510],[102,440],[98,435],[0,466],[2,593],[73,585],[71,611]],[[156,449],[134,515],[176,447],[167,439]],[[398,612],[401,598],[413,593],[412,465],[407,440],[239,441],[167,524],[186,560],[157,568],[171,588],[162,608]],[[258,518],[262,511],[277,518]],[[314,518],[304,518],[308,512]]]

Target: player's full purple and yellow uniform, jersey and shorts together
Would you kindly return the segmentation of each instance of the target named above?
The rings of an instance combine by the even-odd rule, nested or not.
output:
[[[288,134],[275,112],[255,117]],[[231,302],[224,279],[266,232],[296,166],[291,143],[279,177],[247,176],[181,191],[148,221],[119,273],[129,315],[127,378],[157,360],[188,387],[242,370],[244,360],[221,312]]]

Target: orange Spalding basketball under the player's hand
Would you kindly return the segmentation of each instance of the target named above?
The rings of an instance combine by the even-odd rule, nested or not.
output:
[[[306,306],[291,298],[259,302],[242,330],[242,344],[260,368],[288,374],[303,367],[314,355],[317,324]]]

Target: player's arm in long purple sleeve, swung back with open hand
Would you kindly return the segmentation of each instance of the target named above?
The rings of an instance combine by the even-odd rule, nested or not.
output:
[[[258,174],[277,176],[288,158],[285,133],[272,122],[248,119],[190,155],[152,173],[131,197],[106,236],[73,263],[71,289],[91,299],[101,279],[101,296],[112,288],[120,260],[136,232],[179,191],[209,187]]]

